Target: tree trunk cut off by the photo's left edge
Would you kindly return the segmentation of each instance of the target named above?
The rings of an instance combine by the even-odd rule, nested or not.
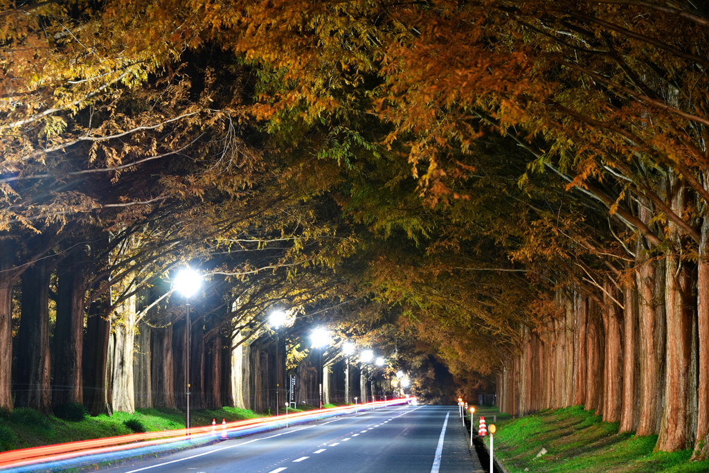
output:
[[[0,240],[0,408],[12,409],[12,287],[18,272],[12,271],[16,245]]]

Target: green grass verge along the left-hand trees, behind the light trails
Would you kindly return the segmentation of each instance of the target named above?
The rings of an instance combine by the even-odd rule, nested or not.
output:
[[[191,411],[191,425],[211,425],[262,417],[247,409],[225,407]],[[11,413],[0,413],[0,451],[36,447],[74,440],[113,437],[133,433],[140,425],[145,430],[172,430],[184,428],[184,411],[177,409],[138,409],[133,414],[116,412],[113,416],[86,417],[83,421],[65,421],[47,417],[38,411],[17,408]]]

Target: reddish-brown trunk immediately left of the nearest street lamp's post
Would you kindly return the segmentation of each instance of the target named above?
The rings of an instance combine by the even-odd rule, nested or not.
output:
[[[150,352],[152,404],[155,407],[177,408],[172,360],[172,325],[150,330]]]

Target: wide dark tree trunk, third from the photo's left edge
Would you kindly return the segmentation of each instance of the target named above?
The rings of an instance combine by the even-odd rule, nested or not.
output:
[[[74,252],[58,268],[57,321],[54,329],[52,406],[84,402],[84,254]]]

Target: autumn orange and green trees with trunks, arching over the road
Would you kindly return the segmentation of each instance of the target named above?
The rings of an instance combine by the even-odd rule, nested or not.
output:
[[[0,0],[0,34],[0,406],[135,408],[191,263],[205,405],[284,306],[289,362],[315,318],[709,455],[700,2]]]

